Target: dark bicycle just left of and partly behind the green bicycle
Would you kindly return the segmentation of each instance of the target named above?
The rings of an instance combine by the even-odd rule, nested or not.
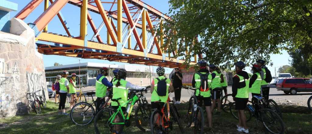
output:
[[[87,92],[88,96],[91,96],[92,98],[92,103],[87,103],[87,102],[80,102],[77,103],[72,109],[71,109],[71,121],[73,121],[75,124],[80,125],[80,126],[84,126],[84,125],[88,125],[90,122],[92,122],[92,120],[94,119],[94,117],[96,116],[97,112],[96,111],[100,111],[99,109],[96,109],[96,111],[94,110],[93,105],[96,108],[96,103],[94,101],[93,98],[93,94],[95,94],[95,92]],[[110,103],[109,100],[112,98],[113,93],[111,90],[108,91],[108,93],[106,93],[107,95],[105,97],[108,97],[106,99],[105,102],[100,104],[100,109],[103,109],[107,106],[110,107]],[[104,99],[105,97],[101,98]]]

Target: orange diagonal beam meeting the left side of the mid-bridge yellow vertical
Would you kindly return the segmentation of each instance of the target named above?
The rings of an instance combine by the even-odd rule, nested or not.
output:
[[[114,45],[117,45],[117,37],[116,37],[116,35],[112,32],[112,26],[111,26],[111,24],[110,24],[109,21],[108,21],[108,17],[107,17],[107,15],[106,15],[106,13],[104,13],[105,10],[104,10],[104,8],[103,8],[103,5],[102,5],[101,1],[100,1],[100,0],[95,0],[95,4],[96,4],[96,6],[97,6],[98,9],[99,9],[100,15],[101,15],[101,17],[102,17],[102,19],[103,19],[103,21],[104,21],[104,23],[105,23],[105,26],[106,26],[106,28],[107,28],[107,31],[109,31],[109,33],[110,33],[110,37],[112,38],[112,40],[113,40],[113,42],[114,42]]]

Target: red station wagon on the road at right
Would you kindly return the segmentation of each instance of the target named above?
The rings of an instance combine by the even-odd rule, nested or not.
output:
[[[308,78],[285,78],[280,79],[276,84],[276,89],[288,94],[297,92],[312,92],[312,80]]]

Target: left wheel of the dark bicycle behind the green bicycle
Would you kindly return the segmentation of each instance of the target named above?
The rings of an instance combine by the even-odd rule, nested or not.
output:
[[[83,106],[81,106],[83,105]],[[91,104],[86,102],[77,103],[71,109],[71,121],[75,124],[83,126],[92,122],[95,117],[95,110]]]

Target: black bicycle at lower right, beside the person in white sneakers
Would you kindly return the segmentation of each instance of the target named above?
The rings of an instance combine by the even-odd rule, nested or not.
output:
[[[257,104],[260,108],[260,115],[256,116],[255,108],[252,105],[249,104],[247,108],[252,113],[252,116],[256,117],[256,123],[258,124],[258,121],[260,121],[264,125],[266,130],[273,134],[283,134],[285,131],[285,125],[280,115],[274,112],[274,110],[268,109],[263,105],[259,104],[260,102],[263,102],[265,100],[263,97],[254,95],[253,98],[257,99]],[[280,128],[277,128],[277,125],[280,126]]]

